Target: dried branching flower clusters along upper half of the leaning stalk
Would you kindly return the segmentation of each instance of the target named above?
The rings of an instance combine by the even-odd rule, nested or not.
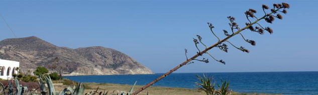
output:
[[[283,19],[283,16],[279,13],[283,13],[283,14],[286,14],[287,11],[286,9],[289,9],[289,5],[286,4],[286,3],[281,3],[281,4],[273,4],[273,8],[269,10],[269,7],[266,6],[266,5],[262,5],[262,9],[263,9],[263,12],[264,12],[264,16],[262,18],[257,18],[257,16],[255,16],[255,14],[257,13],[256,10],[254,9],[249,9],[248,11],[246,11],[244,14],[246,16],[246,19],[247,19],[247,23],[245,23],[246,26],[248,26],[246,29],[252,31],[252,32],[256,32],[256,33],[259,33],[261,35],[264,34],[264,32],[268,32],[269,34],[272,34],[273,33],[273,30],[269,27],[263,27],[261,26],[259,23],[252,23],[251,20],[262,20],[264,19],[265,22],[267,23],[270,23],[272,24],[273,21],[275,20],[275,18],[277,19],[280,19],[282,20]],[[236,18],[232,17],[232,16],[229,16],[227,17],[228,20],[230,21],[229,23],[229,26],[231,28],[231,32],[228,32],[227,30],[223,30],[223,33],[225,36],[229,37],[229,36],[234,36],[236,35],[235,32],[236,31],[239,31],[240,30],[240,27],[239,25],[235,22]],[[212,32],[212,34],[218,39],[218,42],[220,42],[220,38],[216,35],[216,33],[213,31],[213,29],[215,28],[211,23],[207,23],[208,24],[208,27],[210,29],[210,31]],[[243,31],[243,30],[242,30]],[[250,43],[251,45],[255,46],[256,45],[256,42],[254,40],[249,40],[249,39],[246,39],[242,33],[238,33],[239,35],[242,36],[243,40]],[[207,48],[207,46],[205,44],[202,43],[202,37],[199,36],[199,35],[196,35],[197,36],[197,39],[193,38],[193,42],[195,44],[195,47],[196,49],[198,50],[197,51],[197,54],[199,54],[200,56],[202,56],[202,53],[200,53],[202,50],[199,49],[199,44],[201,44],[202,46],[205,47],[205,49]],[[218,47],[220,50],[222,51],[225,51],[225,52],[228,52],[228,45],[226,43],[229,43],[231,46],[237,48],[238,50],[241,50],[243,52],[246,52],[246,53],[249,53],[250,51],[245,49],[243,46],[236,46],[234,44],[232,44],[230,41],[228,40],[225,40],[223,41],[222,43],[219,43],[217,46],[215,47]],[[187,50],[185,51],[185,55],[187,53]],[[225,62],[220,59],[216,59],[215,57],[213,57],[210,53],[208,52],[204,52],[205,54],[208,54],[211,58],[213,58],[214,60],[218,61],[218,62],[221,62],[223,64],[225,64]],[[187,56],[187,55],[186,55]],[[188,60],[188,58],[187,58]],[[202,60],[199,60],[199,59],[192,59],[192,60],[197,60],[197,61],[202,61],[202,62],[205,62],[205,63],[208,63],[208,59],[206,58],[202,58]],[[189,62],[188,64],[190,63],[193,63],[192,62]]]

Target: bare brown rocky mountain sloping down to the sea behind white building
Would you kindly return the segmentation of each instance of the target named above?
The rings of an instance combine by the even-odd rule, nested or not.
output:
[[[20,62],[20,71],[49,67],[58,58],[64,75],[152,74],[153,72],[115,49],[100,46],[71,49],[58,47],[38,37],[0,41],[0,58]]]

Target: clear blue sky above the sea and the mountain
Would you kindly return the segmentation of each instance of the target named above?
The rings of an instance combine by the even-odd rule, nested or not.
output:
[[[291,5],[283,20],[262,23],[274,30],[272,35],[244,31],[256,46],[239,35],[230,39],[250,53],[231,46],[228,53],[212,49],[210,53],[226,65],[204,56],[209,63],[194,61],[177,72],[317,71],[318,1],[0,1],[0,14],[19,38],[37,36],[74,49],[113,48],[158,73],[185,61],[185,48],[188,56],[197,52],[195,35],[201,35],[206,45],[217,42],[207,22],[224,38],[222,30],[230,30],[227,16],[236,17],[243,27],[249,8],[260,17],[262,4],[272,7],[281,2]],[[0,40],[14,38],[3,20],[0,33]]]

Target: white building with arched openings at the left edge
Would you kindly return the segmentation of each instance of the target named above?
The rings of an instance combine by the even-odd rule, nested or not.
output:
[[[17,61],[10,61],[10,60],[3,60],[0,59],[0,78],[2,79],[11,79],[13,78],[12,74],[18,74],[16,70],[17,67],[20,66],[20,62]]]

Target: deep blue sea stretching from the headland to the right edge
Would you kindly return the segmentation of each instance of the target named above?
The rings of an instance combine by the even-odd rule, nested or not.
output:
[[[80,82],[145,85],[163,73],[138,75],[64,76]],[[203,73],[172,73],[153,86],[195,88],[196,75]],[[230,88],[246,93],[318,94],[318,71],[303,72],[218,72],[204,73],[215,81],[230,81]]]

